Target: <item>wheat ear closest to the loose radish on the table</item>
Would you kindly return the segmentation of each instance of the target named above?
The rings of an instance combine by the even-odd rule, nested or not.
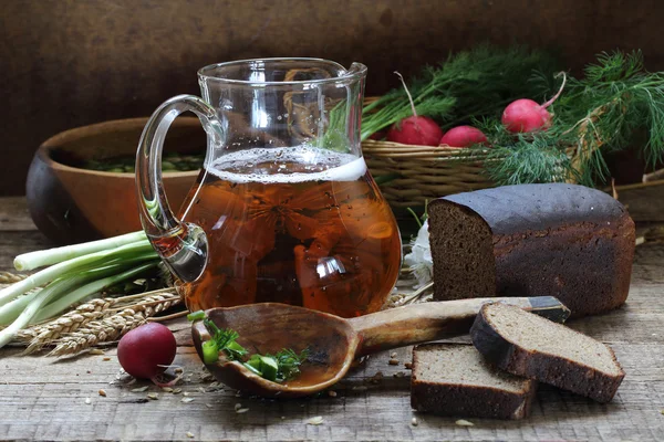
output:
[[[173,294],[147,296],[141,303],[126,307],[114,315],[92,320],[77,330],[62,336],[49,356],[79,354],[92,346],[117,340],[127,332],[147,322],[147,318],[180,303]]]

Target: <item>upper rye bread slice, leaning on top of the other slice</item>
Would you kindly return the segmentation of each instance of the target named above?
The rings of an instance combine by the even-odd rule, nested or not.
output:
[[[516,306],[483,306],[470,337],[499,368],[599,402],[613,399],[625,377],[606,345]]]

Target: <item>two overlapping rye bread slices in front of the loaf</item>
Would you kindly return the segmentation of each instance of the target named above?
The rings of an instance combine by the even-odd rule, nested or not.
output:
[[[470,337],[475,347],[415,347],[414,409],[521,419],[530,412],[537,381],[609,402],[625,376],[606,345],[516,306],[485,305]]]

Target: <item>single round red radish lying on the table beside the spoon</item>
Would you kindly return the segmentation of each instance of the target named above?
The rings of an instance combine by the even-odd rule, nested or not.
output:
[[[168,327],[149,323],[134,328],[120,339],[117,359],[135,378],[154,379],[175,359],[177,345]]]

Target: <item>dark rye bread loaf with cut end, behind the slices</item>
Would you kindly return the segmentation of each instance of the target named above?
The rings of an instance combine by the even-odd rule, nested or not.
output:
[[[428,206],[434,298],[554,296],[572,317],[622,305],[634,222],[599,190],[506,186]]]

